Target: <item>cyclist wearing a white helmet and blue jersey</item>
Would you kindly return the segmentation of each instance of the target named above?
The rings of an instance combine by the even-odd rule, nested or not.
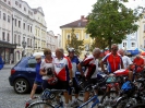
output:
[[[72,62],[72,70],[73,70],[73,74],[72,74],[72,82],[73,82],[73,87],[75,89],[75,99],[72,101],[72,95],[71,95],[71,92],[72,89],[70,88],[69,91],[69,97],[70,97],[70,100],[72,101],[71,103],[71,107],[73,107],[74,105],[77,106],[78,105],[78,101],[77,101],[77,98],[78,98],[78,84],[77,84],[77,80],[75,77],[75,72],[77,71],[77,64],[80,63],[80,60],[78,58],[74,55],[75,53],[75,49],[74,48],[69,48],[68,49],[68,52],[69,52],[69,58]]]

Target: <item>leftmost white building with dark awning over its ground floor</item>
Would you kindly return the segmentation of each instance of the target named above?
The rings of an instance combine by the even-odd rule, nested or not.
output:
[[[0,0],[0,56],[5,63],[14,61],[12,35],[12,0]]]

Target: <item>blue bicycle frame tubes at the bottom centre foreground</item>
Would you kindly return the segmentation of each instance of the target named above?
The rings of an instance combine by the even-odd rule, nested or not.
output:
[[[89,108],[94,108],[97,104],[99,104],[99,99],[98,99],[98,96],[97,95],[94,95],[92,98],[89,98],[87,101],[85,101],[84,104],[82,104],[77,108],[83,108],[84,106],[86,106],[87,104],[89,104],[90,101],[93,101],[94,99],[95,99],[95,101],[89,107]]]

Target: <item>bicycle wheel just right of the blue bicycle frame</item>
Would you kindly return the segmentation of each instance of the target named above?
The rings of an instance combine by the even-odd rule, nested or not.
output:
[[[112,100],[117,97],[117,92],[116,91],[110,91],[106,93],[101,98],[100,98],[100,104],[105,106],[105,108],[111,107],[112,106]]]

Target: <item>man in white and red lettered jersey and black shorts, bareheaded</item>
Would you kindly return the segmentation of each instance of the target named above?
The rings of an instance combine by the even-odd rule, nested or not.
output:
[[[72,63],[68,57],[64,57],[64,50],[62,48],[56,49],[56,58],[53,59],[55,73],[58,77],[57,87],[65,89],[63,93],[65,98],[64,108],[69,107],[69,83],[72,83]]]

